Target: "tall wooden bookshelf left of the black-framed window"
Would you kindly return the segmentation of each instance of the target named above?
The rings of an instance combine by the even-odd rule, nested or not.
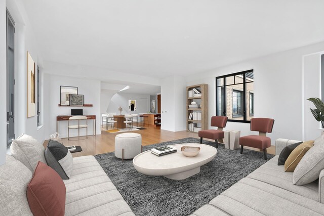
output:
[[[201,97],[192,97],[189,95],[189,91],[196,89],[201,92]],[[197,127],[201,127],[202,130],[208,129],[208,84],[197,84],[187,87],[187,131],[189,131],[189,124],[195,123]],[[189,104],[194,101],[197,104],[200,104],[200,108],[189,108]],[[198,112],[201,113],[200,120],[197,119],[188,119],[190,113]]]

